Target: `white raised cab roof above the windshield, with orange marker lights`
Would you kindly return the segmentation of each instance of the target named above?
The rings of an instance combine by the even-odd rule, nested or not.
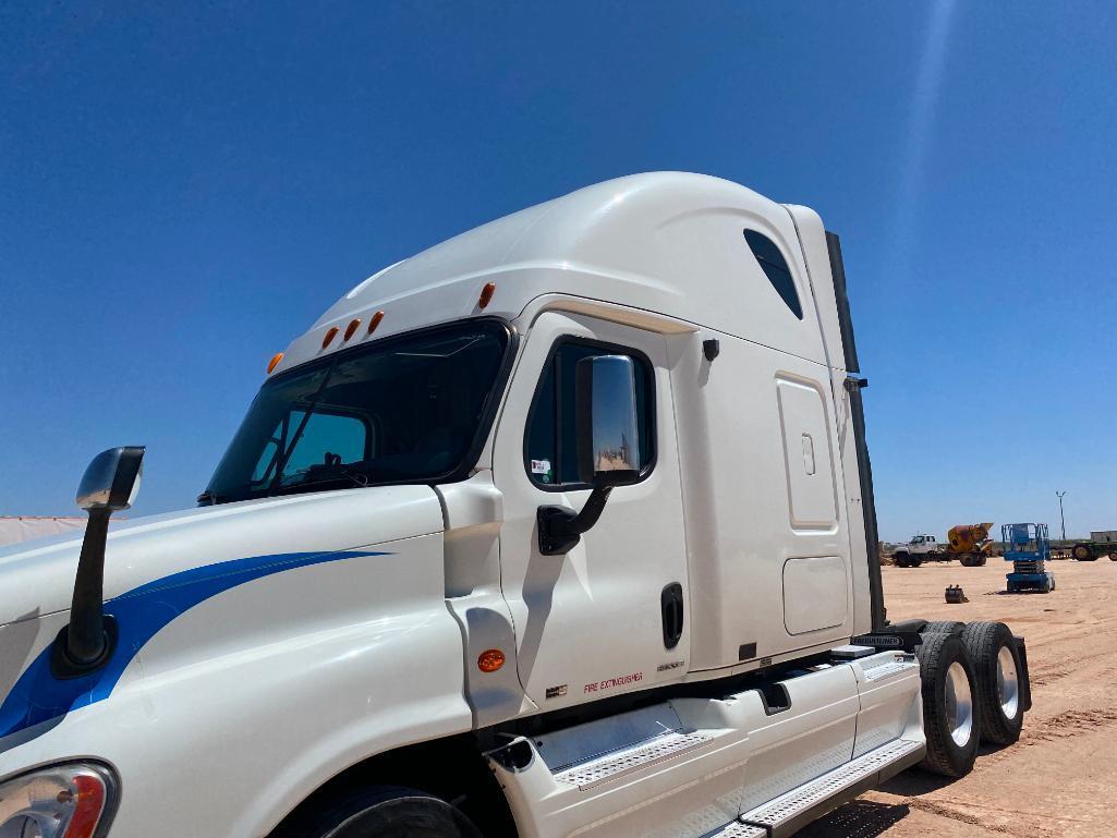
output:
[[[465,317],[484,314],[513,322],[543,295],[653,312],[827,363],[796,235],[796,220],[804,219],[821,232],[821,220],[811,210],[785,207],[704,174],[652,172],[598,183],[490,221],[374,274],[296,339],[276,371]],[[805,317],[795,316],[768,282],[745,240],[746,229],[779,247]],[[483,310],[478,301],[487,283],[496,289]],[[357,325],[350,328],[354,321]],[[326,342],[331,330],[336,332]]]

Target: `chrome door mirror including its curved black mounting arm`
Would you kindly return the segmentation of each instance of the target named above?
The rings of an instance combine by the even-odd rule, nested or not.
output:
[[[577,474],[593,492],[579,513],[541,506],[536,513],[540,552],[569,553],[601,513],[614,486],[640,479],[636,363],[628,355],[583,358],[574,369]]]

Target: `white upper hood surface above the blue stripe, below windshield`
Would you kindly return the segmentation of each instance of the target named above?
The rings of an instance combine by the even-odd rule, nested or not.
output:
[[[105,599],[174,573],[255,556],[324,554],[440,532],[429,486],[245,501],[122,522],[105,547]],[[69,609],[82,536],[0,550],[0,626]]]

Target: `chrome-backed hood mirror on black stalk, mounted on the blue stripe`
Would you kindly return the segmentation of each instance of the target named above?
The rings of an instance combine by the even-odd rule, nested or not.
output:
[[[116,623],[105,617],[105,541],[108,518],[135,501],[143,474],[143,446],[102,451],[82,477],[77,505],[89,513],[77,560],[70,621],[55,641],[51,667],[61,678],[74,678],[102,666],[113,654]]]

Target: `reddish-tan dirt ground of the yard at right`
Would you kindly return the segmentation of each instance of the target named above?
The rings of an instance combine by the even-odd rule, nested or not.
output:
[[[885,568],[885,597],[892,620],[1000,620],[1028,639],[1033,706],[1020,742],[983,747],[961,780],[906,771],[800,838],[1117,836],[1117,562],[1052,561],[1048,594],[1002,593],[1008,568]],[[970,602],[946,604],[948,584]]]

